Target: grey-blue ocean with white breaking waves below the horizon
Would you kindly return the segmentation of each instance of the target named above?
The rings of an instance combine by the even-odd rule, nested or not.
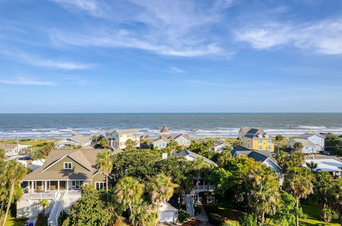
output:
[[[156,137],[163,125],[193,138],[234,138],[240,127],[259,126],[271,135],[304,132],[342,134],[342,113],[117,113],[0,114],[0,138],[93,136],[109,129],[137,128]]]

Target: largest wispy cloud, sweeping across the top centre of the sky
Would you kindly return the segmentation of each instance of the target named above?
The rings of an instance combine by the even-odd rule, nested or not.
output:
[[[63,6],[67,4],[87,13],[95,8],[92,5],[103,4],[95,0],[91,2],[85,10],[85,5],[70,5],[70,1],[57,0]],[[231,51],[220,46],[209,25],[222,23],[220,17],[223,10],[229,8],[232,2],[220,0],[203,5],[196,1],[131,0],[117,1],[111,5],[107,3],[105,12],[101,14],[101,19],[106,19],[110,24],[107,27],[93,27],[74,33],[55,29],[51,31],[51,40],[57,46],[135,48],[182,57],[231,55]],[[131,10],[120,11],[124,8],[122,5],[129,5]],[[115,17],[118,14],[120,18]],[[143,29],[137,29],[136,25]]]

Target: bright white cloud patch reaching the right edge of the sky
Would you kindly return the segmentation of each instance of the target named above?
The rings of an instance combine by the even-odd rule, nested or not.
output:
[[[239,41],[249,42],[254,49],[289,45],[323,55],[342,54],[342,18],[329,18],[315,23],[271,23],[249,25],[235,32]]]

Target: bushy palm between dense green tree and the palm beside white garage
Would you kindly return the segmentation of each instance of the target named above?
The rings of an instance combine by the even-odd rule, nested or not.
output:
[[[136,203],[142,197],[144,184],[140,184],[133,177],[123,177],[114,188],[116,201],[123,205],[129,205],[129,212],[132,214],[132,203]]]

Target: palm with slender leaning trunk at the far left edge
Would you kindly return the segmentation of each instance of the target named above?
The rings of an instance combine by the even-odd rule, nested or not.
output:
[[[21,181],[21,179],[25,177],[27,173],[27,168],[23,164],[16,162],[16,160],[9,160],[8,162],[6,162],[3,171],[5,172],[5,177],[8,178],[8,183],[10,185],[10,194],[8,197],[5,219],[3,221],[3,226],[5,226],[8,212],[10,212],[10,206],[14,193],[14,185],[16,184],[16,182]]]

